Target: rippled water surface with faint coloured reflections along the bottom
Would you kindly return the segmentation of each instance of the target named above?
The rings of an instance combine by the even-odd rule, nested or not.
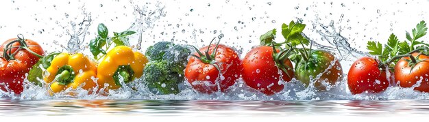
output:
[[[1,100],[0,115],[275,116],[426,115],[427,101]]]

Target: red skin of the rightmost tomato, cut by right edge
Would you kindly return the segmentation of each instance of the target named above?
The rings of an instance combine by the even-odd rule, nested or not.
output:
[[[418,52],[412,53],[413,57],[419,55]],[[414,89],[422,92],[429,92],[429,61],[421,61],[415,65],[413,70],[410,72],[411,67],[408,66],[408,62],[404,57],[397,61],[395,66],[395,80],[400,82],[400,87],[413,87],[417,81],[421,80],[420,86]],[[417,59],[417,58],[416,58]],[[420,55],[419,60],[429,59],[426,55]],[[423,78],[423,79],[421,79]]]

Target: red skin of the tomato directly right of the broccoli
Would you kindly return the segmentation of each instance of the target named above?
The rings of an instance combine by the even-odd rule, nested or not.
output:
[[[215,44],[210,45],[210,50],[208,51],[209,54],[212,53],[215,46]],[[199,50],[204,52],[207,48],[208,46],[205,46]],[[194,55],[200,57],[196,52]],[[236,80],[240,77],[243,66],[236,51],[223,44],[219,44],[219,47],[217,48],[215,61],[221,62],[221,66],[219,68],[221,69],[224,79],[221,80],[221,78],[219,78],[219,80],[221,80],[219,82],[219,86],[221,88],[221,92],[225,92],[230,86],[234,85]],[[210,94],[218,91],[216,79],[219,76],[219,71],[213,65],[206,64],[195,57],[191,57],[186,65],[184,75],[191,86],[201,93]],[[195,81],[210,81],[210,86],[194,85],[197,83]]]

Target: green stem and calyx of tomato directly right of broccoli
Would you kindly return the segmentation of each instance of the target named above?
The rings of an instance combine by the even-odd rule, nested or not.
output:
[[[212,45],[212,42],[215,39],[216,39],[216,37],[214,37],[212,39],[212,41],[210,41],[210,44],[208,44],[208,48],[206,51],[204,51],[204,54],[203,54],[203,52],[199,51],[197,47],[192,46],[197,51],[198,55],[200,55],[200,57],[198,57],[197,55],[190,55],[190,56],[201,60],[201,62],[203,62],[203,63],[213,65],[220,72],[221,69],[219,68],[219,65],[217,65],[217,61],[215,60],[217,48],[219,47],[219,42],[221,42],[220,38],[219,38],[219,41],[217,42],[214,50],[212,51],[212,54],[208,53],[208,51],[210,50],[210,46]]]

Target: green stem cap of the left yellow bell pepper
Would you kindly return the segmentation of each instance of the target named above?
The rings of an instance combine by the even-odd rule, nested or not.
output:
[[[64,65],[58,70],[55,79],[59,85],[68,85],[75,79],[75,72],[71,65]]]

